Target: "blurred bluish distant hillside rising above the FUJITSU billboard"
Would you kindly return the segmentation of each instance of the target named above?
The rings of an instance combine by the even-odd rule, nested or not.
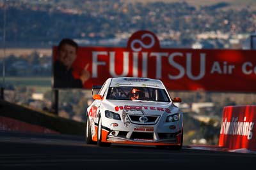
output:
[[[242,41],[255,32],[256,1],[131,4],[139,1],[8,1],[6,43],[0,41],[0,48],[51,48],[65,37],[86,46],[126,46],[132,32],[140,29],[154,32],[162,46],[171,48],[197,43],[203,48],[242,48]],[[237,7],[243,10],[230,9]]]

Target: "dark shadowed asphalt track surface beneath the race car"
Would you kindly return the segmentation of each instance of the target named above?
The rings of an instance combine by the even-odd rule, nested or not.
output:
[[[81,136],[0,132],[2,169],[255,169],[256,154],[86,145]]]

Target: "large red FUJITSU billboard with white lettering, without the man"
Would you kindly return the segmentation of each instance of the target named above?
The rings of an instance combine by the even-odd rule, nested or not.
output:
[[[54,48],[56,49],[56,48]],[[56,59],[56,50],[54,50]],[[132,34],[127,47],[79,47],[73,74],[89,64],[84,89],[109,77],[156,78],[169,90],[256,92],[255,50],[194,50],[161,48],[150,31]]]

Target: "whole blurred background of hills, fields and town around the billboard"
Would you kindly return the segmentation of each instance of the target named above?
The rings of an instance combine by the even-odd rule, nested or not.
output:
[[[0,0],[4,98],[52,112],[52,46],[62,38],[80,46],[126,46],[141,29],[154,32],[162,48],[248,50],[256,1]],[[223,107],[256,103],[255,94],[169,90],[182,98],[185,144],[218,143]],[[91,94],[60,90],[60,117],[84,122]]]

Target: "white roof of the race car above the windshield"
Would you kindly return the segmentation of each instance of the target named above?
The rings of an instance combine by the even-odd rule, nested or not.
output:
[[[151,78],[134,78],[134,77],[118,77],[112,78],[110,87],[152,87],[157,89],[165,89],[163,82]]]

